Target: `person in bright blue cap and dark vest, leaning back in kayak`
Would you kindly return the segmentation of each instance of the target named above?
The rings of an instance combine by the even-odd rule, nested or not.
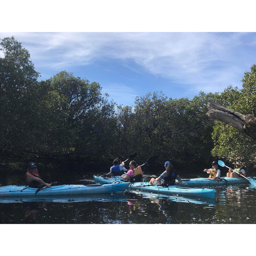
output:
[[[156,179],[151,178],[149,184],[156,185],[161,184],[163,186],[171,186],[177,183],[181,183],[182,180],[177,175],[177,172],[173,169],[173,166],[170,161],[164,163],[165,171]],[[176,181],[177,180],[177,181]]]

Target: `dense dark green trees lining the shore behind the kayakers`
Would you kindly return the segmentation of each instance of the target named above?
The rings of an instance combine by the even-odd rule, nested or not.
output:
[[[254,171],[255,140],[207,116],[207,102],[251,114],[255,65],[244,73],[241,90],[228,86],[193,99],[149,92],[123,106],[109,101],[99,83],[73,73],[38,81],[28,50],[13,37],[0,39],[0,51],[0,173],[26,170],[31,161],[52,170],[107,170],[114,158],[134,151],[138,163],[158,155],[152,168],[166,160],[192,169],[224,159]]]

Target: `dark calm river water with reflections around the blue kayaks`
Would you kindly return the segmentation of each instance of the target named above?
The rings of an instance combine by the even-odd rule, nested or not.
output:
[[[94,183],[92,175],[76,175],[73,180],[69,177],[70,182],[66,183]],[[150,177],[152,175],[145,175],[145,180]],[[215,189],[215,200],[140,192],[57,198],[52,201],[1,200],[0,224],[256,223],[256,189],[249,184]]]

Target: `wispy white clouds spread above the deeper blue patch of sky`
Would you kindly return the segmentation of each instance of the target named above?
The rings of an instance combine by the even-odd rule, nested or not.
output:
[[[255,47],[256,41],[246,33],[168,32],[0,33],[0,38],[10,35],[29,49],[36,67],[53,73],[100,59],[122,60],[127,67],[132,61],[148,73],[204,91],[239,85],[253,64],[250,53],[241,61],[242,47]]]

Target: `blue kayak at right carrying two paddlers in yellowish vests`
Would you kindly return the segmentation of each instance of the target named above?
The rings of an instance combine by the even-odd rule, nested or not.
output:
[[[220,185],[239,185],[249,183],[247,179],[221,177],[220,180],[195,178],[195,179],[181,179],[182,183],[179,186],[220,186]]]

